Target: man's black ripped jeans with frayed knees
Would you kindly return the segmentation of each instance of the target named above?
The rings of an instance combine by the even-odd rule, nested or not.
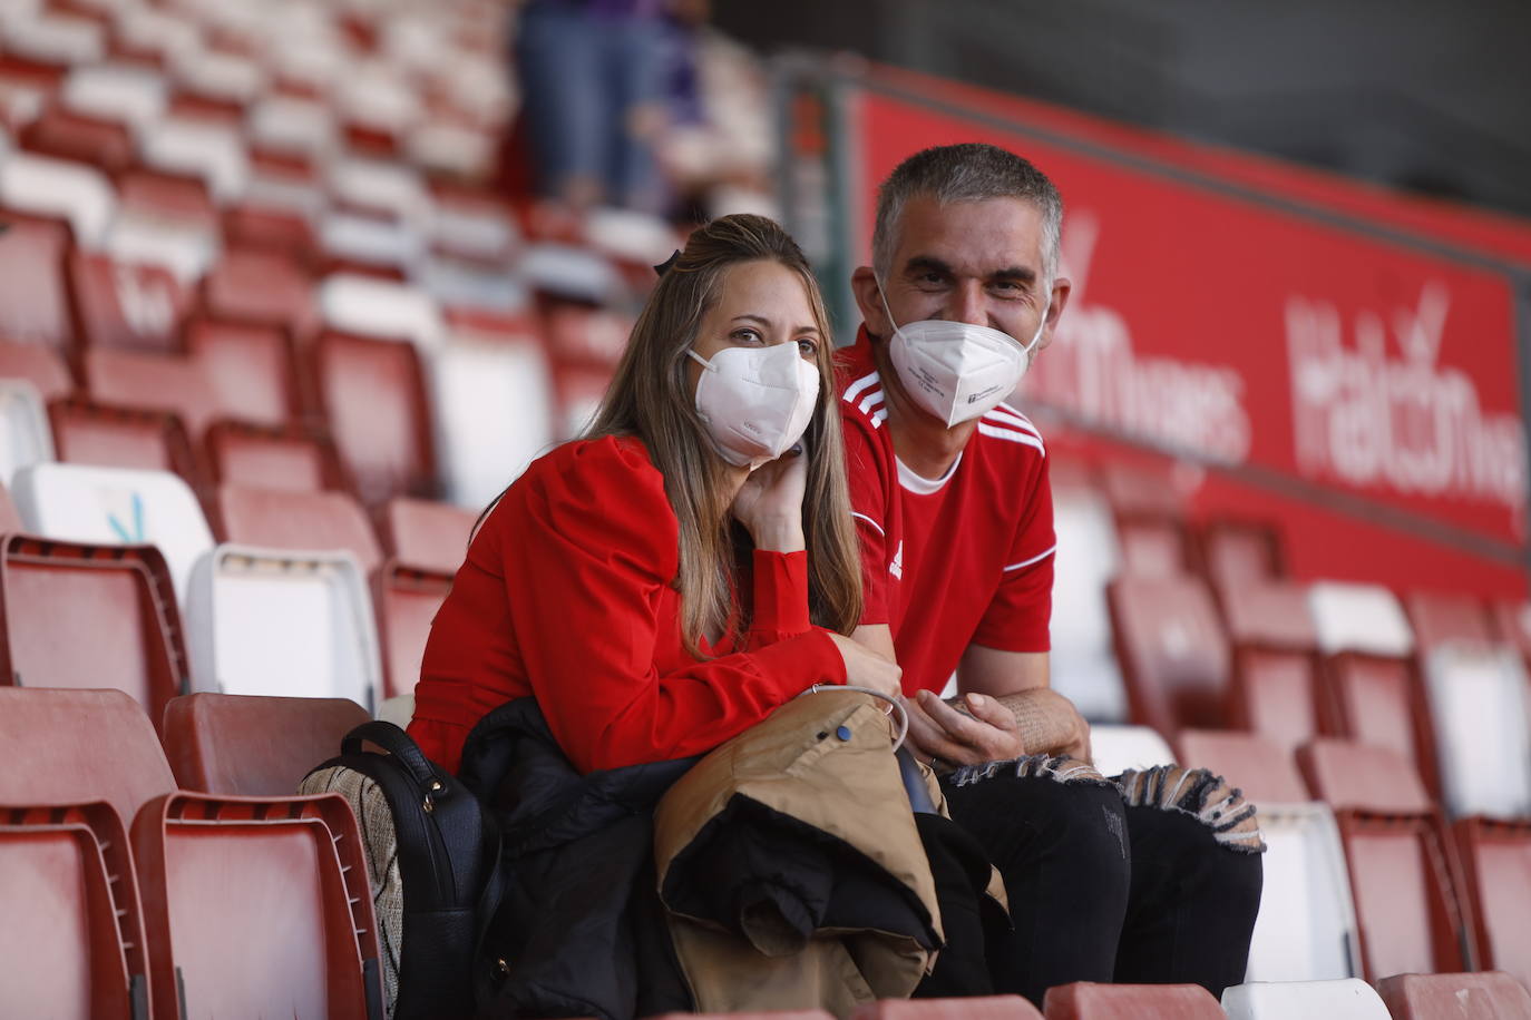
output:
[[[1078,980],[1196,983],[1214,996],[1243,982],[1258,853],[1220,846],[1194,815],[1125,806],[1113,786],[1006,774],[942,786],[952,820],[1004,876],[1014,930],[984,934],[978,911],[943,898],[949,959],[917,996],[1014,992],[1041,1008],[1049,988]]]

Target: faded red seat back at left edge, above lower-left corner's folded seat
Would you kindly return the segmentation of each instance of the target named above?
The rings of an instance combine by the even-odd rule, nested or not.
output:
[[[176,788],[142,705],[116,690],[0,687],[0,804],[106,801],[130,826]]]

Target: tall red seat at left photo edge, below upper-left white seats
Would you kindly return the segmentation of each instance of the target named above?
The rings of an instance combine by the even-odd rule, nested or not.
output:
[[[75,344],[64,257],[72,232],[63,220],[0,210],[0,336],[47,344],[64,352]]]

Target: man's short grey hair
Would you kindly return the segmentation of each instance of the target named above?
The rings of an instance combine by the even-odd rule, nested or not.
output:
[[[903,206],[919,194],[939,203],[1021,199],[1043,214],[1043,283],[1058,274],[1063,197],[1041,170],[1015,153],[983,142],[937,145],[899,164],[877,188],[877,223],[871,232],[871,265],[879,280],[893,271]]]

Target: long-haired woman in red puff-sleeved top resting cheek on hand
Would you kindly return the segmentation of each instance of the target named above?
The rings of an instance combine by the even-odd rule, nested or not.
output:
[[[824,303],[759,216],[692,234],[585,439],[527,468],[430,629],[409,733],[458,768],[533,696],[577,769],[704,752],[813,684],[899,693],[845,635],[860,566]]]

